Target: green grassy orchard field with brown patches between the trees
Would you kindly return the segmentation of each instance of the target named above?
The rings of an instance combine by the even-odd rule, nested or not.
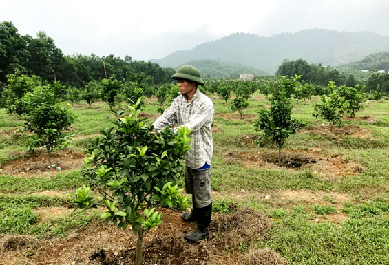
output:
[[[240,119],[224,100],[210,97],[215,105],[213,210],[228,214],[248,206],[265,213],[271,224],[266,238],[240,244],[240,253],[255,245],[290,264],[389,264],[388,101],[364,103],[356,118],[344,118],[332,133],[325,120],[312,116],[315,98],[294,102],[293,116],[308,125],[287,140],[286,164],[279,167],[271,145],[253,144],[258,132],[252,121],[268,100],[254,94]],[[150,122],[159,116],[157,107],[156,100],[145,100],[144,116]],[[114,115],[105,103],[72,108],[77,121],[67,134],[74,138],[73,152],[82,153],[88,140],[111,126]],[[27,136],[15,133],[22,124],[0,109],[0,236],[32,235],[44,241],[100,224],[98,211],[72,211],[66,196],[84,182],[80,167],[17,171],[31,159],[25,151]],[[46,218],[43,209],[65,210]]]

